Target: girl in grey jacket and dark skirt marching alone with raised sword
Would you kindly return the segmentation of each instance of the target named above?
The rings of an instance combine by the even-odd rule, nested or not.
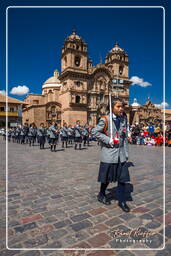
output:
[[[101,141],[101,162],[98,176],[98,182],[101,182],[101,187],[98,201],[103,204],[111,203],[106,197],[106,188],[110,182],[117,181],[118,206],[123,211],[129,212],[130,209],[125,199],[125,183],[130,181],[126,164],[128,159],[128,127],[127,120],[123,116],[123,108],[122,100],[115,100],[112,103],[111,116],[102,117],[92,133]],[[111,127],[112,131],[110,130]],[[112,137],[109,137],[111,134]]]

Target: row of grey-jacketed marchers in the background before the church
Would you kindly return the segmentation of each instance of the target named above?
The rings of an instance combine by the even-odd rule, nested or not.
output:
[[[80,125],[80,121],[77,120],[75,126],[67,126],[64,123],[63,127],[59,128],[55,121],[49,127],[46,127],[44,123],[41,123],[39,127],[36,127],[34,123],[30,126],[25,123],[24,125],[18,126],[16,128],[9,129],[3,135],[4,140],[8,137],[8,141],[29,144],[29,146],[34,146],[35,143],[39,143],[40,149],[44,149],[45,143],[49,143],[49,148],[52,152],[56,151],[56,146],[59,140],[62,142],[62,148],[68,147],[68,144],[74,145],[74,149],[81,150],[82,142],[83,146],[89,146],[91,140],[91,130],[88,124],[84,126]]]

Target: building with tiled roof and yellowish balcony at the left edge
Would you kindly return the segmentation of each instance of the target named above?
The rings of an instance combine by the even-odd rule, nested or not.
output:
[[[8,127],[16,127],[22,123],[22,108],[25,102],[0,94],[0,127],[5,128],[6,116],[8,116]]]

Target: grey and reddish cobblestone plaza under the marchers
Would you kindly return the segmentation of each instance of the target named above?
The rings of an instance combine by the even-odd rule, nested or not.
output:
[[[97,201],[99,152],[96,142],[77,151],[71,146],[62,149],[59,144],[57,152],[50,152],[47,144],[40,150],[38,145],[9,143],[8,246],[113,250],[6,250],[5,141],[0,138],[0,255],[170,255],[171,149],[166,147],[166,247],[161,251],[153,249],[164,245],[162,147],[129,146],[134,185],[133,201],[128,201],[130,213],[124,213],[114,199],[111,205]],[[111,198],[115,187],[113,183],[108,188]],[[117,230],[122,234],[116,233]]]

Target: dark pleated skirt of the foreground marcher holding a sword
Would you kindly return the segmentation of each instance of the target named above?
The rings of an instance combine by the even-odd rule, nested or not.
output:
[[[103,163],[100,162],[98,182],[129,182],[129,170],[127,162]]]

